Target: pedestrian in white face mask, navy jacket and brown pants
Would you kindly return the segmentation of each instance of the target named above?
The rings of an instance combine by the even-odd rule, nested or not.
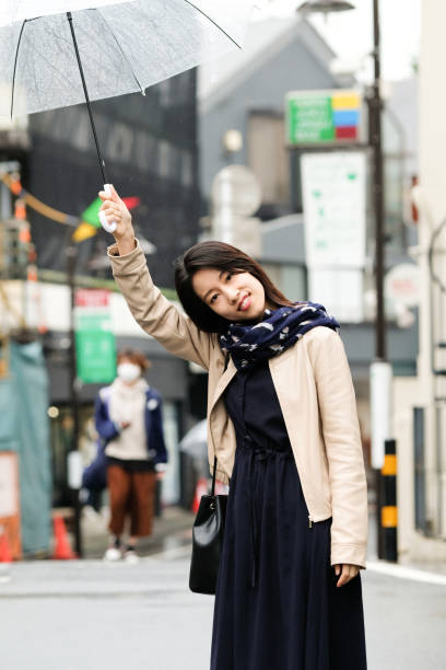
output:
[[[143,354],[119,351],[117,378],[101,389],[95,406],[96,430],[105,443],[110,505],[110,543],[106,561],[139,561],[137,542],[151,534],[156,478],[167,462],[162,423],[162,400],[142,373],[149,368]],[[122,542],[129,517],[130,534]]]

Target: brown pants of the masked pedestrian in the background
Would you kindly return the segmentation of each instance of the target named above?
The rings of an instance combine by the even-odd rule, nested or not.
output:
[[[107,483],[110,501],[110,532],[119,538],[127,515],[130,516],[130,535],[144,538],[152,533],[156,474],[154,472],[126,472],[119,465],[108,465]]]

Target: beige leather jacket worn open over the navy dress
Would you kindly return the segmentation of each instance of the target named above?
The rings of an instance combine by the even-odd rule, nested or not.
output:
[[[157,289],[139,247],[119,256],[108,249],[113,273],[137,322],[175,356],[209,371],[209,462],[231,477],[236,440],[223,391],[236,373],[224,371],[218,337],[199,331]],[[318,326],[269,361],[308,508],[308,527],[332,517],[331,565],[365,567],[367,493],[356,404],[340,336]]]

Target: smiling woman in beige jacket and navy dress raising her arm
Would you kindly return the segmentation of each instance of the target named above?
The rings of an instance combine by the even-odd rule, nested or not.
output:
[[[219,242],[177,262],[184,316],[153,285],[116,192],[99,196],[134,319],[209,371],[209,461],[231,480],[211,670],[364,670],[366,484],[337,322]]]

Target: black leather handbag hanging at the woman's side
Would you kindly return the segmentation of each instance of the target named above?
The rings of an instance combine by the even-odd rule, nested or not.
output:
[[[227,496],[215,496],[216,458],[211,494],[201,496],[192,528],[189,588],[195,593],[215,593],[223,547]]]

